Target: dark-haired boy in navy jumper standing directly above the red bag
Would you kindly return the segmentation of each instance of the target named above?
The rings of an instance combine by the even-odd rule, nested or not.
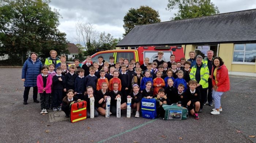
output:
[[[84,69],[78,69],[78,76],[75,80],[75,95],[81,100],[84,100],[85,88]]]

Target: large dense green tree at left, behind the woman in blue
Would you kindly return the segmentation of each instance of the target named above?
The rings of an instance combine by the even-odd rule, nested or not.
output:
[[[50,50],[68,54],[66,34],[57,29],[60,14],[50,0],[0,0],[0,53],[27,58],[30,51],[49,57]]]

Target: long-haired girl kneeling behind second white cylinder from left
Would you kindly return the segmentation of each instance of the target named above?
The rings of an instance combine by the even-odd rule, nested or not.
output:
[[[102,74],[105,73],[104,71],[101,72]],[[97,83],[98,84],[98,83]],[[108,89],[108,83],[107,82],[101,82],[100,83],[100,89],[97,91],[97,96],[95,97],[95,107],[97,108],[97,111],[99,114],[105,116],[106,115],[106,97],[109,96],[109,93],[107,91]]]

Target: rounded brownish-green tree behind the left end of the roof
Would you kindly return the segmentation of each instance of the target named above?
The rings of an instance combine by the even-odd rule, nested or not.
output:
[[[148,6],[140,6],[138,9],[130,8],[123,21],[125,30],[123,36],[127,35],[136,25],[161,22],[158,11]]]

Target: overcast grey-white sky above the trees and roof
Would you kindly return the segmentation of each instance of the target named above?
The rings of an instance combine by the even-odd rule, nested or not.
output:
[[[220,13],[256,8],[256,0],[212,0]],[[91,23],[100,33],[105,31],[114,38],[124,33],[123,18],[130,8],[148,5],[159,12],[161,22],[169,21],[177,10],[167,11],[168,0],[52,0],[49,4],[59,10],[61,32],[67,34],[69,42],[75,43],[75,24]]]

